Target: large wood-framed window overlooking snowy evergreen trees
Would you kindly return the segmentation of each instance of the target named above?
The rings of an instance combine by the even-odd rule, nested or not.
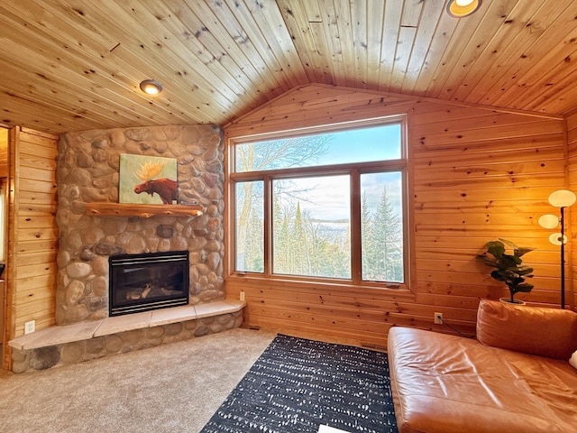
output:
[[[407,279],[403,119],[233,140],[234,272]]]

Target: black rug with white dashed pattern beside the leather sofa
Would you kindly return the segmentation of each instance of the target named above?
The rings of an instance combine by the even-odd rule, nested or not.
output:
[[[387,354],[278,335],[201,433],[397,432]]]

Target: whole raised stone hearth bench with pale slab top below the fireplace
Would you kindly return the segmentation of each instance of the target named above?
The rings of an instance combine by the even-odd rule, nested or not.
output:
[[[46,370],[240,327],[245,305],[225,299],[48,327],[8,343],[12,371]]]

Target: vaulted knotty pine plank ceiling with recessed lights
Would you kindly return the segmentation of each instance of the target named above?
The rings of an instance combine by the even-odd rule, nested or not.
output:
[[[0,0],[0,124],[227,124],[310,83],[566,115],[577,2]],[[138,85],[155,78],[158,97]]]

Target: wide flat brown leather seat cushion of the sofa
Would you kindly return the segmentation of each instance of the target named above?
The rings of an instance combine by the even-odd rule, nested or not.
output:
[[[388,353],[400,433],[576,431],[567,361],[407,327],[389,330]]]

